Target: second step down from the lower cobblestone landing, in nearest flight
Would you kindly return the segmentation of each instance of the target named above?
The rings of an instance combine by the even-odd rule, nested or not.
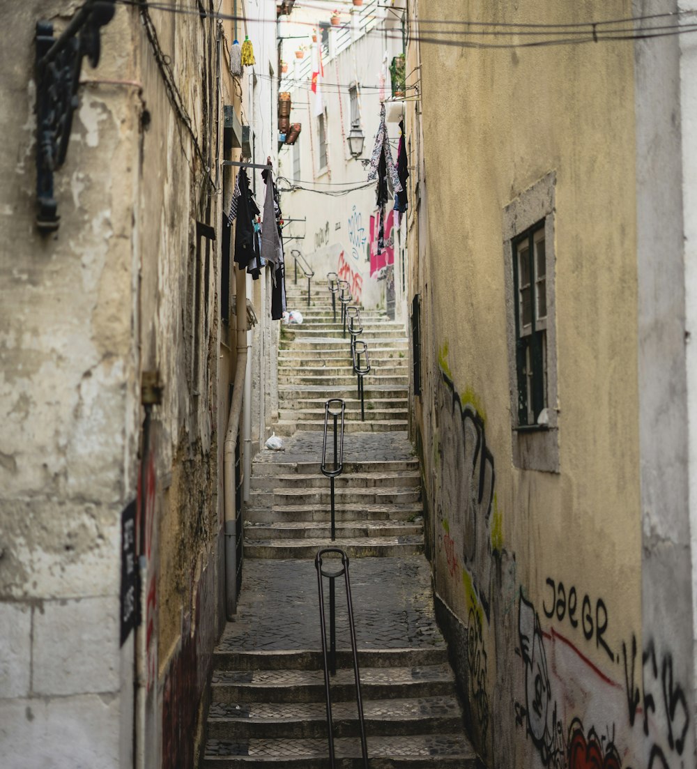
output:
[[[363,667],[360,691],[366,700],[437,697],[453,694],[455,677],[447,664],[420,667]],[[352,701],[353,670],[339,668],[330,682],[333,702]],[[214,671],[213,702],[322,702],[324,673],[320,670]]]

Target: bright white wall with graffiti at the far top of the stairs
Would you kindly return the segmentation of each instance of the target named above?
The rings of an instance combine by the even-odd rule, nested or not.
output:
[[[369,169],[363,168],[360,161],[351,157],[346,140],[351,128],[349,85],[353,82],[360,84],[360,127],[365,136],[362,157],[370,158],[380,121],[380,100],[390,98],[388,67],[393,56],[401,52],[401,42],[393,39],[397,37],[393,32],[388,38],[386,29],[392,28],[393,22],[386,20],[383,8],[373,3],[360,9],[360,14],[366,13],[370,18],[374,17],[375,24],[365,35],[358,31],[358,12],[351,17],[348,10],[342,14],[342,23],[350,28],[353,42],[338,55],[333,55],[333,52],[346,42],[347,30],[330,30],[329,58],[323,59],[324,82],[320,83],[327,115],[328,161],[324,168],[320,168],[316,96],[310,90],[307,65],[300,65],[294,57],[298,41],[291,38],[284,42],[284,58],[290,64],[290,78],[281,82],[280,88],[290,91],[293,102],[290,122],[300,122],[302,132],[295,147],[284,147],[280,151],[280,172],[284,188],[291,184],[304,188],[283,196],[287,218],[307,218],[306,222],[288,225],[287,236],[297,238],[288,242],[288,250],[300,249],[317,278],[324,279],[329,271],[339,272],[340,277],[349,281],[353,298],[364,307],[384,308],[386,276],[384,271],[371,275],[369,255],[370,242],[377,239],[376,185],[367,185]],[[327,20],[328,13],[305,10],[304,16],[297,17],[297,21],[306,23],[316,23],[320,19]],[[284,35],[303,32],[309,35],[310,31],[311,27],[288,24]],[[309,37],[304,43],[312,45]],[[309,55],[310,52],[307,52],[306,56]],[[388,134],[392,140],[394,161],[397,161],[400,135],[397,122],[402,110],[402,102],[387,106],[388,118],[393,118],[388,122]],[[294,154],[298,151],[300,173],[294,176]],[[360,188],[361,185],[367,186]],[[357,189],[340,197],[324,194],[347,188]],[[392,206],[393,201],[390,201],[387,205],[388,216]],[[397,239],[396,218],[393,238]],[[398,245],[394,253],[395,271],[400,275]]]

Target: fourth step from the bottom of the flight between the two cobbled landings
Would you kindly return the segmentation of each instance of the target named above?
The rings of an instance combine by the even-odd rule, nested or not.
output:
[[[335,487],[334,492],[336,504],[341,507],[347,504],[414,504],[420,500],[420,496],[421,490],[418,486],[360,488],[347,484],[343,488]],[[274,488],[273,491],[251,491],[249,502],[252,508],[271,508],[274,504],[327,505],[330,504],[330,480],[326,479],[324,488],[300,486]]]

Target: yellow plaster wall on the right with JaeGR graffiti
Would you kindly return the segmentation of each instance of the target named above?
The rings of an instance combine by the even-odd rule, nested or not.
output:
[[[629,17],[632,4],[426,0],[419,13],[573,23]],[[684,398],[669,395],[681,387],[669,372],[684,366],[669,57],[656,53],[659,67],[640,51],[635,81],[631,45],[422,45],[421,56],[432,226],[418,219],[417,425],[437,600],[473,737],[496,767],[578,769],[592,754],[607,767],[692,765],[685,452],[661,448],[685,420]],[[635,118],[649,112],[635,145]],[[457,137],[447,151],[444,137]],[[506,206],[551,172],[559,471],[542,472],[514,461],[503,225]],[[665,273],[664,240],[675,260]],[[663,312],[664,291],[677,315]]]

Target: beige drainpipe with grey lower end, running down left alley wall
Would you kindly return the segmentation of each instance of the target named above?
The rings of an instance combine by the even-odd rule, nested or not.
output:
[[[234,372],[232,403],[227,418],[223,458],[225,508],[225,607],[227,618],[237,614],[237,530],[235,521],[234,454],[240,433],[240,417],[247,378],[247,275],[235,270],[237,279],[237,363]]]

